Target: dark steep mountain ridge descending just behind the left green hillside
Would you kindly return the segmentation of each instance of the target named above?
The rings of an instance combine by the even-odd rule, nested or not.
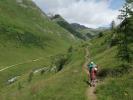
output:
[[[62,16],[56,14],[51,17],[51,20],[56,22],[58,25],[63,27],[64,29],[68,30],[70,33],[72,33],[73,36],[85,40],[85,37],[78,31],[76,31],[71,24],[69,24]]]

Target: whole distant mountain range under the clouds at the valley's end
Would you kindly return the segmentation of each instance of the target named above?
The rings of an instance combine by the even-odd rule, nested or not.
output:
[[[77,23],[70,24],[59,14],[51,16],[50,18],[51,20],[59,24],[61,27],[71,32],[72,35],[83,40],[92,39],[100,32],[104,31],[104,29],[92,29]]]

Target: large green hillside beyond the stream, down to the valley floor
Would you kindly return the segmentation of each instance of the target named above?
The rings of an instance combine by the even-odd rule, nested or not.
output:
[[[75,41],[31,0],[0,0],[0,13],[0,91],[15,76],[50,67]]]

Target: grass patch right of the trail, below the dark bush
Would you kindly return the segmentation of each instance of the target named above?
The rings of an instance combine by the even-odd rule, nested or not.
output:
[[[109,78],[97,88],[99,100],[132,100],[133,74]]]

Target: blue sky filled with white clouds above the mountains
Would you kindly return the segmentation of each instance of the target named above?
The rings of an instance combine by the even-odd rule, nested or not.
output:
[[[69,23],[89,28],[109,26],[124,0],[33,0],[46,14],[60,14]]]

